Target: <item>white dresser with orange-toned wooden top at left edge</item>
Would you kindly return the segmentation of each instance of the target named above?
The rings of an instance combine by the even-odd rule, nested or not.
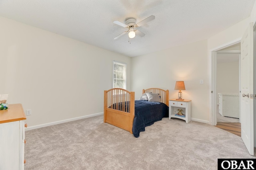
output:
[[[0,110],[0,170],[24,170],[25,119],[22,104]]]

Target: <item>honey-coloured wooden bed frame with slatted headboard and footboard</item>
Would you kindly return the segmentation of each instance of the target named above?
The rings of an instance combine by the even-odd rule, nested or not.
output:
[[[144,93],[158,93],[161,96],[160,101],[169,106],[169,90],[160,88],[149,88],[142,90]],[[125,108],[125,102],[129,102],[128,108]],[[115,105],[122,103],[122,105]],[[132,124],[135,113],[135,93],[122,88],[112,88],[104,90],[104,122],[120,127],[132,133]]]

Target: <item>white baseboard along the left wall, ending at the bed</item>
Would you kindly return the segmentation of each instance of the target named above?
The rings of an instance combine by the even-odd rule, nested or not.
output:
[[[57,124],[60,124],[60,123],[66,123],[66,122],[69,122],[69,121],[85,119],[85,118],[88,118],[88,117],[93,117],[93,116],[98,116],[98,115],[103,115],[103,112],[102,113],[95,113],[95,114],[92,114],[92,115],[81,116],[81,117],[74,117],[74,118],[71,118],[71,119],[66,119],[66,120],[61,120],[61,121],[54,121],[54,122],[51,122],[51,123],[45,123],[45,124],[41,124],[41,125],[28,126],[28,127],[25,128],[25,131],[29,131],[29,130],[32,130],[32,129],[38,129],[38,128],[41,128],[41,127],[47,127],[47,126],[51,126],[51,125],[57,125]]]

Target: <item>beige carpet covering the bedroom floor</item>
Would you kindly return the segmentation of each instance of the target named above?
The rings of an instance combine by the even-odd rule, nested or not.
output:
[[[103,115],[25,132],[25,170],[216,170],[218,158],[255,158],[217,127],[168,118],[135,138]]]

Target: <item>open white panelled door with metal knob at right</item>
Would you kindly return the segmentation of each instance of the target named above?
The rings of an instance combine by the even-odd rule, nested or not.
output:
[[[254,155],[253,125],[253,23],[241,40],[241,137],[251,155]]]

